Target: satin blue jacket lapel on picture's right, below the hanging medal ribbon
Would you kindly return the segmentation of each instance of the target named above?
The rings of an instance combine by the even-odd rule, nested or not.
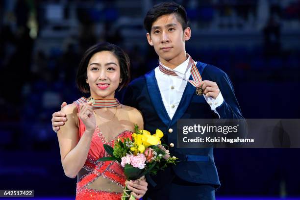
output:
[[[206,65],[207,64],[205,64],[205,63],[197,62],[196,67],[198,68],[200,75],[202,74]],[[190,75],[189,79],[193,80],[192,75]],[[172,121],[170,122],[169,126],[174,125],[177,122],[177,120],[179,120],[183,116],[186,109],[190,105],[190,102],[191,102],[192,97],[195,94],[195,92],[196,92],[196,88],[192,84],[187,83],[186,87],[184,89],[184,92],[182,94],[181,100],[179,102],[179,105],[177,107],[177,110],[176,110],[174,117],[172,118]]]

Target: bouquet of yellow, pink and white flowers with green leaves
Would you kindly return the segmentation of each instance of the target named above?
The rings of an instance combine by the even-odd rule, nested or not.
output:
[[[157,171],[163,170],[168,164],[175,164],[177,159],[170,156],[166,145],[161,144],[163,135],[159,129],[151,135],[149,131],[139,130],[135,125],[131,138],[119,138],[114,142],[113,148],[104,144],[104,149],[111,156],[102,157],[98,161],[120,162],[127,180],[139,179],[147,174],[156,175]],[[127,185],[121,200],[135,200]]]

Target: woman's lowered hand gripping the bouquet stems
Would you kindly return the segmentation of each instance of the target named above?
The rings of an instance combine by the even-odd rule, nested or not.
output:
[[[144,179],[142,178],[138,180],[126,180],[125,184],[127,184],[127,188],[132,191],[131,194],[136,199],[142,198],[148,190],[148,183],[146,182],[145,177]]]

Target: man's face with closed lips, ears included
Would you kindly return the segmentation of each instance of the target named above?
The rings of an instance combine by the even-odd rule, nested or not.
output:
[[[191,29],[188,27],[183,31],[175,14],[157,18],[152,24],[151,32],[147,33],[149,44],[154,47],[159,58],[166,61],[181,54],[185,56],[185,41],[190,37]]]

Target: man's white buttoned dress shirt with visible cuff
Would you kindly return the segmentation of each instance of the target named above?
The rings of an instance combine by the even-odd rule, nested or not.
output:
[[[159,67],[156,67],[154,69],[155,78],[157,80],[157,85],[160,91],[161,99],[163,100],[164,106],[171,120],[179,105],[185,86],[187,84],[190,84],[186,80],[182,79],[185,78],[188,80],[190,78],[191,66],[188,66],[189,59],[190,56],[183,63],[175,67],[175,69],[173,70],[180,77],[167,75],[161,72],[159,70]],[[197,62],[195,62],[195,65],[196,64]],[[166,66],[164,67],[169,70],[172,70]],[[213,110],[215,113],[219,115],[219,113],[216,111],[216,108],[220,106],[224,101],[221,91],[216,99],[213,99],[212,97],[207,98],[205,95],[203,95],[203,97],[211,107],[211,110]]]

